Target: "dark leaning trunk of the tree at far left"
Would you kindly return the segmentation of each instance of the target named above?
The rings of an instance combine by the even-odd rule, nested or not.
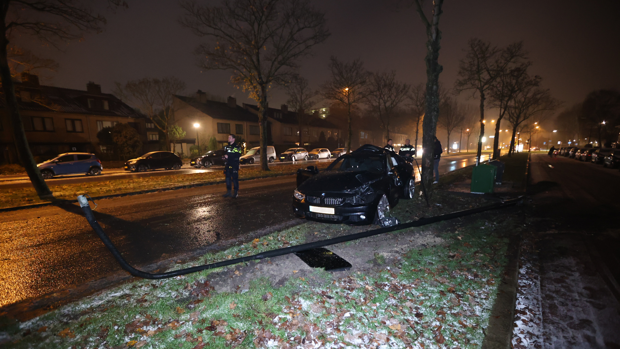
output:
[[[2,5],[3,10],[6,11],[6,5]],[[38,197],[45,200],[54,199],[51,194],[50,188],[48,188],[45,179],[38,170],[37,163],[30,152],[30,146],[28,145],[28,139],[26,138],[26,132],[24,131],[24,124],[19,113],[19,106],[17,104],[17,97],[15,97],[15,86],[11,78],[11,68],[9,68],[9,62],[7,58],[7,45],[9,40],[6,38],[6,12],[0,14],[0,27],[5,28],[4,34],[2,34],[2,42],[0,43],[0,78],[2,79],[2,91],[4,92],[4,99],[6,101],[6,109],[11,119],[11,126],[13,130],[13,137],[15,140],[15,149],[19,160],[24,166],[32,186],[37,191]]]

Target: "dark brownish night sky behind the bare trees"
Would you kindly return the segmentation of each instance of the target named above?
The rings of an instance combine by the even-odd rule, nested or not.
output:
[[[113,81],[174,75],[187,83],[186,94],[202,89],[236,96],[239,104],[253,102],[229,83],[228,72],[200,72],[192,52],[201,39],[178,24],[182,11],[177,2],[128,2],[129,9],[105,14],[105,32],[70,43],[63,52],[26,42],[60,63],[58,73],[44,83],[85,89],[92,80],[110,92]],[[314,87],[328,78],[330,55],[359,57],[369,70],[394,69],[407,83],[425,81],[425,30],[412,8],[399,10],[396,0],[313,3],[326,12],[332,33],[314,49],[314,57],[301,62],[302,75]],[[467,40],[479,37],[498,45],[525,40],[533,73],[565,106],[582,101],[593,89],[619,88],[619,15],[617,0],[446,0],[440,23],[441,82],[453,86]],[[279,107],[285,99],[281,90],[273,90],[270,106]]]

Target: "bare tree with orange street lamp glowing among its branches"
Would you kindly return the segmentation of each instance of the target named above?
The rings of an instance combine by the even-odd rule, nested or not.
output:
[[[351,152],[351,109],[366,100],[366,83],[369,73],[364,69],[364,62],[359,58],[351,63],[339,61],[332,56],[329,62],[330,79],[321,86],[321,95],[330,101],[336,101],[347,108],[347,152]]]

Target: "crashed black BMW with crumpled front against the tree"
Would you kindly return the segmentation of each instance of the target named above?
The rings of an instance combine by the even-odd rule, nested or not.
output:
[[[391,207],[414,196],[414,168],[401,156],[363,145],[324,171],[297,171],[293,212],[298,218],[347,225],[393,225]]]

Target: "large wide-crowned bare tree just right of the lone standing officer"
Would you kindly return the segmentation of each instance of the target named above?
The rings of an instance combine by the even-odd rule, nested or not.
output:
[[[224,0],[221,6],[183,1],[180,23],[212,41],[196,49],[200,68],[230,70],[231,81],[259,106],[260,166],[267,165],[267,97],[290,81],[299,58],[329,37],[325,14],[308,0]]]

